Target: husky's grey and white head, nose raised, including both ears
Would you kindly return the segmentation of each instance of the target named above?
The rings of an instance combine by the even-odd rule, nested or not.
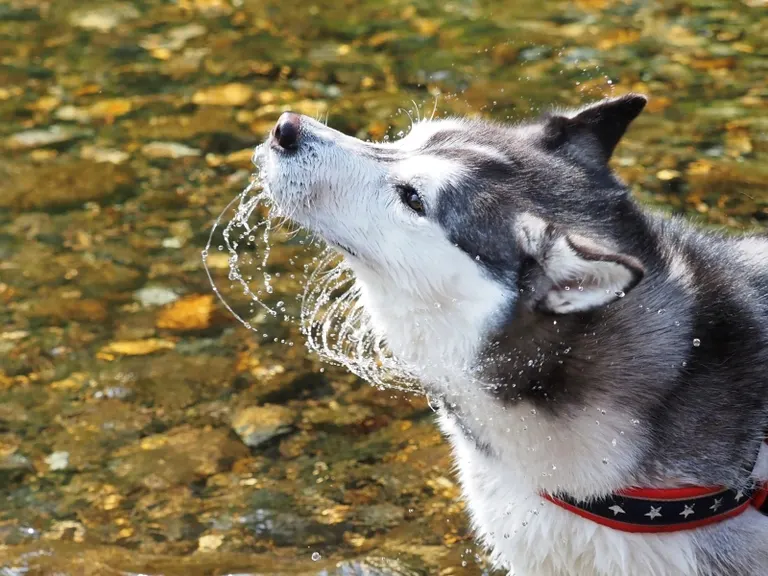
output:
[[[393,143],[285,113],[254,158],[279,211],[344,254],[396,355],[424,361],[414,338],[463,331],[443,352],[466,362],[516,307],[585,312],[643,277],[628,229],[641,224],[608,161],[645,103],[422,121]]]

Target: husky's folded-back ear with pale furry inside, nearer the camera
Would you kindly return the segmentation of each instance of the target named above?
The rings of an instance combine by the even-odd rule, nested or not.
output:
[[[517,222],[518,246],[542,276],[533,306],[550,314],[587,312],[623,298],[642,280],[636,258],[578,234],[556,230],[543,220]]]

